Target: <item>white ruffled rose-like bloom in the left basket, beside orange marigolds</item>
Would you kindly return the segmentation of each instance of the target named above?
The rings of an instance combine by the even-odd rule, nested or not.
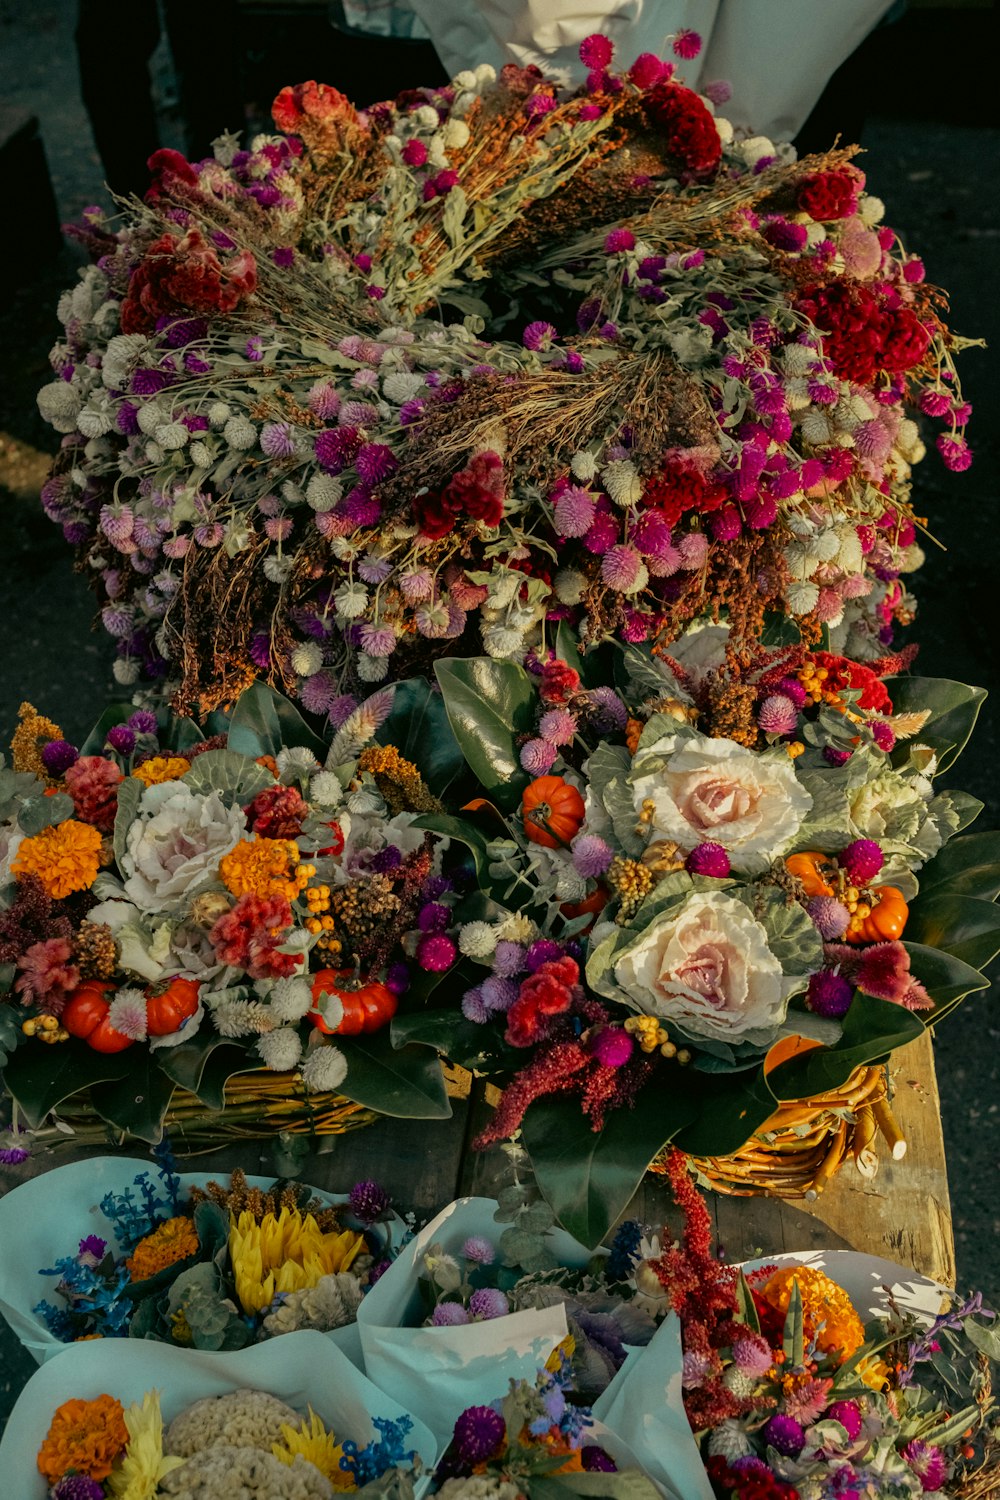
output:
[[[142,912],[177,906],[217,879],[219,860],[244,831],[243,808],[226,807],[217,792],[205,796],[183,782],[147,788],[121,858],[124,894]]]

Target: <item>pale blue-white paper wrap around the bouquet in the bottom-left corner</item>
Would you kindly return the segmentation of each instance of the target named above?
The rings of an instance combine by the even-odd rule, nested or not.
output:
[[[229,1354],[174,1348],[151,1340],[91,1340],[70,1344],[64,1354],[36,1370],[21,1392],[0,1442],[3,1494],[10,1500],[45,1500],[48,1485],[37,1472],[37,1450],[63,1401],[117,1396],[123,1406],[159,1390],[163,1425],[202,1396],[231,1390],[268,1390],[297,1412],[312,1406],[339,1440],[370,1443],[378,1434],[372,1418],[397,1422],[406,1408],[376,1390],[370,1380],[330,1342],[325,1334],[285,1334]],[[436,1462],[432,1434],[415,1420],[406,1438],[423,1462]],[[427,1482],[421,1480],[417,1494]]]

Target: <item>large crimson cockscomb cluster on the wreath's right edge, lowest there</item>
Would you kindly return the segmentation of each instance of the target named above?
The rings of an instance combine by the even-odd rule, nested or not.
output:
[[[855,282],[807,288],[799,302],[825,333],[823,354],[841,380],[871,386],[880,370],[901,375],[927,354],[931,334],[912,308],[895,304],[892,288]]]

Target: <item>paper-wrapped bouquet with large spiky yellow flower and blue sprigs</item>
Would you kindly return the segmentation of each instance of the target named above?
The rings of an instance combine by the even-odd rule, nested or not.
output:
[[[0,1308],[30,1352],[43,1360],[67,1342],[126,1336],[229,1350],[315,1329],[361,1366],[358,1304],[408,1234],[385,1191],[358,1182],[318,1197],[238,1168],[223,1185],[180,1176],[165,1149],[156,1156],[159,1180],[99,1156],[0,1200],[0,1226],[31,1226],[0,1269]],[[54,1300],[48,1288],[39,1300],[39,1274]]]

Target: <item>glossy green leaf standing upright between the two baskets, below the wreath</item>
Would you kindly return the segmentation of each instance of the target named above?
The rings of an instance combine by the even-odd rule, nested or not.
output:
[[[435,662],[451,729],[484,795],[501,812],[520,804],[528,772],[517,759],[517,738],[534,722],[535,690],[523,668],[490,657]]]

